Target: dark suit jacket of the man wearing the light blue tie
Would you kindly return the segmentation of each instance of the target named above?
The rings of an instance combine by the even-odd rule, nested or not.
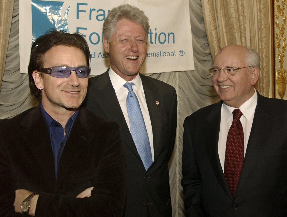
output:
[[[155,160],[147,171],[132,140],[108,71],[90,78],[84,106],[120,124],[125,144],[127,192],[124,216],[172,216],[169,173],[176,130],[177,97],[175,89],[156,79],[141,75],[152,123]],[[156,101],[159,104],[156,104]]]

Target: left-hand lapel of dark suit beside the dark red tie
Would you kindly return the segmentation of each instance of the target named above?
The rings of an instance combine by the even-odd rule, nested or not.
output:
[[[221,117],[221,105],[222,102],[216,103],[213,110],[211,110],[210,114],[206,117],[208,124],[204,128],[204,138],[206,144],[206,151],[213,168],[213,171],[218,179],[219,183],[222,185],[222,188],[226,192],[226,194],[233,198],[228,184],[225,180],[222,167],[220,164],[219,156],[218,156],[218,139],[219,139],[219,129],[220,129],[220,117]]]

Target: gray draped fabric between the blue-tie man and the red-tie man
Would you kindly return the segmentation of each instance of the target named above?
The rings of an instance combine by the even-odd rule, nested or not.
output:
[[[148,75],[172,85],[178,97],[177,134],[172,158],[169,162],[170,191],[174,217],[185,216],[183,190],[180,183],[182,179],[184,119],[199,108],[220,100],[213,88],[212,77],[208,71],[213,62],[205,32],[201,1],[189,0],[189,7],[195,70]]]

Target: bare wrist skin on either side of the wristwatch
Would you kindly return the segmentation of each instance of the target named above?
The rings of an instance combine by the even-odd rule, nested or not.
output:
[[[15,207],[16,213],[22,213],[21,204],[23,200],[25,200],[31,193],[33,192],[25,190],[25,189],[17,189],[15,191],[14,207]],[[38,197],[39,195],[35,195],[32,197],[30,201],[29,215],[35,216],[35,210],[36,210],[36,204],[37,204]]]

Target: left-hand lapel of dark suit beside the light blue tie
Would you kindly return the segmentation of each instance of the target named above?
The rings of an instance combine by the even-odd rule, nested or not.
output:
[[[95,82],[94,89],[97,91],[95,94],[95,103],[98,104],[108,120],[114,120],[120,124],[123,142],[135,153],[139,160],[141,160],[117,100],[117,95],[112,86],[108,71],[109,70],[98,75],[99,79]]]

